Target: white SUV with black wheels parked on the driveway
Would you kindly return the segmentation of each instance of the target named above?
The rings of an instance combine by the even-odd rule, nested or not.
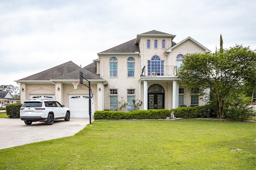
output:
[[[58,101],[41,99],[24,101],[20,108],[20,119],[26,125],[32,122],[46,122],[46,125],[52,125],[54,120],[64,119],[70,120],[70,110]]]

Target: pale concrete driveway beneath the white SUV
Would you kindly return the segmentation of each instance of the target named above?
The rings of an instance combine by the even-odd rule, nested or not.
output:
[[[68,122],[60,119],[54,121],[52,125],[46,125],[45,122],[26,125],[20,119],[2,118],[0,119],[0,149],[73,136],[88,124],[90,124],[89,118],[70,118]]]

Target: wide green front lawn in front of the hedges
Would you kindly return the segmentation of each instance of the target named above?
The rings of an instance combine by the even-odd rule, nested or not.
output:
[[[255,123],[94,121],[74,136],[0,150],[0,169],[255,170],[255,142]]]

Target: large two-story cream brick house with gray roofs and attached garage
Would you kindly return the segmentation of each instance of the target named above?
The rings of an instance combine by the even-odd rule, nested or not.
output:
[[[89,117],[88,82],[74,89],[79,72],[91,83],[92,115],[104,109],[117,110],[118,102],[128,103],[122,111],[134,110],[133,100],[142,101],[141,110],[174,109],[204,105],[190,90],[179,86],[176,76],[187,53],[209,49],[188,37],[174,43],[175,35],[152,30],[135,39],[98,53],[86,67],[72,61],[17,80],[21,102],[27,99],[56,99],[70,108],[71,117]]]

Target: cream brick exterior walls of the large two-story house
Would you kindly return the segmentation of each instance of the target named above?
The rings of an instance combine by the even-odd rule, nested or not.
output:
[[[186,55],[187,53],[205,53],[208,51],[200,43],[188,37],[180,43],[173,43],[175,37],[171,34],[165,34],[156,31],[148,32],[148,34],[138,34],[134,43],[124,43],[112,49],[98,53],[99,59],[94,60],[95,75],[99,77],[91,81],[92,95],[94,96],[94,110],[110,109],[110,89],[118,89],[118,101],[128,102],[127,89],[135,89],[135,100],[142,101],[140,109],[148,109],[148,88],[151,85],[160,85],[164,89],[162,97],[164,100],[164,109],[172,109],[178,107],[178,77],[176,75],[156,75],[148,76],[145,69],[145,76],[141,76],[144,66],[148,66],[148,61],[157,55],[160,61],[163,61],[164,67],[172,66],[174,68],[177,63],[177,55]],[[147,47],[147,41],[150,40],[150,48]],[[154,42],[157,40],[157,48],[154,47]],[[162,48],[162,41],[165,41],[165,47]],[[136,43],[135,43],[136,41]],[[133,40],[131,40],[133,42]],[[127,44],[127,45],[126,45]],[[130,51],[129,48],[133,47]],[[126,50],[126,47],[128,48]],[[117,51],[121,52],[116,52]],[[112,51],[111,51],[112,50]],[[122,50],[124,52],[122,52]],[[110,77],[110,58],[116,57],[117,61],[117,77]],[[127,61],[129,57],[134,57],[134,61]],[[128,62],[135,63],[134,77],[128,77]],[[85,68],[86,69],[86,68]],[[78,72],[79,73],[79,72]],[[77,73],[77,74],[78,74]],[[88,74],[84,74],[86,77]],[[17,81],[21,83],[20,93],[21,103],[30,99],[30,95],[44,94],[54,95],[55,99],[60,101],[63,105],[69,106],[68,95],[83,94],[88,95],[88,87],[85,85],[78,85],[74,89],[72,81],[79,81],[78,78],[73,79],[50,79],[40,83],[40,81]],[[88,86],[88,82],[84,81]],[[147,89],[144,89],[144,88]],[[173,89],[173,87],[176,87]],[[184,105],[190,106],[191,95],[190,91],[184,89]],[[198,105],[204,105],[205,101],[200,100]],[[127,108],[123,109],[127,111]]]

